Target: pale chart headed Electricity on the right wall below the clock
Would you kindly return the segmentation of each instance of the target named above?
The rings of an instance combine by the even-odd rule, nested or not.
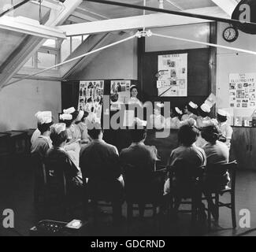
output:
[[[256,73],[232,73],[229,75],[229,105],[232,108],[256,106]]]

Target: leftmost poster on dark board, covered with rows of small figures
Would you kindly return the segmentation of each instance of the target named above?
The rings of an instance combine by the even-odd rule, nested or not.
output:
[[[92,122],[101,122],[103,94],[103,80],[80,81],[78,109],[87,111]]]

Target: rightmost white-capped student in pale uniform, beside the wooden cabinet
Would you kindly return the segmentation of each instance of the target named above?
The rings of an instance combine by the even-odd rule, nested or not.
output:
[[[231,139],[233,130],[232,127],[228,124],[228,113],[224,110],[219,109],[217,111],[217,121],[218,127],[221,130],[221,142],[225,143],[228,146],[228,149],[231,147]]]

